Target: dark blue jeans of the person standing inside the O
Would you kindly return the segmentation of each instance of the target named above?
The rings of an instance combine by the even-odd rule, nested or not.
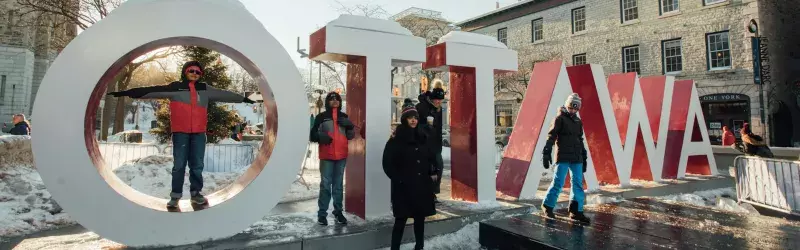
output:
[[[186,163],[189,163],[189,191],[192,196],[203,189],[203,158],[206,153],[205,133],[172,133],[172,193],[171,198],[183,196]]]

